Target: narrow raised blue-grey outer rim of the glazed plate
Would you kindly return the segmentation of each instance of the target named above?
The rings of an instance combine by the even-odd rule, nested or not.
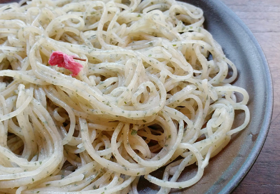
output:
[[[271,76],[271,72],[269,69],[269,65],[268,65],[267,59],[265,57],[265,54],[262,50],[262,47],[260,46],[260,43],[255,38],[255,36],[251,32],[251,30],[248,28],[248,26],[246,26],[246,24],[242,21],[242,19],[240,19],[238,17],[238,15],[236,13],[234,13],[234,11],[231,10],[229,7],[227,7],[225,5],[225,3],[223,3],[222,1],[220,1],[220,0],[209,0],[209,1],[212,1],[213,4],[215,4],[215,6],[218,6],[221,9],[223,9],[223,11],[225,11],[227,15],[230,15],[230,17],[232,17],[231,19],[235,20],[240,25],[240,27],[244,30],[244,33],[247,33],[247,35],[250,37],[256,50],[258,51],[258,56],[262,60],[260,63],[262,63],[262,66],[265,70],[265,72],[263,72],[264,76],[266,78],[265,79],[265,81],[266,81],[265,88],[267,88],[267,92],[268,92],[267,99],[266,99],[267,106],[264,111],[265,112],[264,119],[262,122],[261,129],[259,131],[258,137],[255,141],[255,145],[251,149],[251,152],[248,154],[244,163],[241,165],[241,168],[232,177],[232,179],[230,179],[230,181],[228,181],[228,183],[223,187],[223,189],[221,191],[219,191],[219,194],[222,194],[222,193],[232,193],[239,186],[241,181],[246,177],[246,175],[248,174],[250,169],[253,167],[255,161],[257,160],[257,158],[262,150],[262,147],[267,138],[267,134],[268,134],[269,127],[270,127],[270,122],[272,119],[273,99],[274,99],[273,82],[272,82],[272,76]],[[211,188],[209,188],[208,191],[211,191]]]

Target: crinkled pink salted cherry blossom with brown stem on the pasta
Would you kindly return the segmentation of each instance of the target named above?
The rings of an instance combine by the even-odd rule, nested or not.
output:
[[[74,55],[69,56],[63,52],[54,51],[50,55],[49,64],[70,70],[72,72],[71,75],[76,76],[83,69],[83,65],[76,62],[74,59],[86,61],[85,59],[75,57]]]

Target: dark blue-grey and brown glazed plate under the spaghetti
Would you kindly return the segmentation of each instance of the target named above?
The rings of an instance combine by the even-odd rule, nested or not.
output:
[[[226,56],[238,70],[235,86],[245,88],[250,100],[248,108],[251,119],[248,126],[232,136],[230,143],[209,161],[202,179],[195,185],[171,190],[171,193],[230,193],[251,169],[258,157],[272,116],[273,89],[269,67],[263,51],[239,17],[218,0],[185,0],[204,11],[204,27],[222,46]],[[236,111],[234,125],[243,120],[242,112]],[[178,181],[194,176],[197,166],[185,169]],[[152,173],[161,178],[164,169]],[[141,177],[139,193],[156,193],[159,187]]]

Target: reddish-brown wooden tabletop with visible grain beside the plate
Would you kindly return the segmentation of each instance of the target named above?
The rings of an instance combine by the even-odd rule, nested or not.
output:
[[[265,144],[238,193],[280,193],[280,0],[221,0],[251,29],[272,74],[274,106]]]

